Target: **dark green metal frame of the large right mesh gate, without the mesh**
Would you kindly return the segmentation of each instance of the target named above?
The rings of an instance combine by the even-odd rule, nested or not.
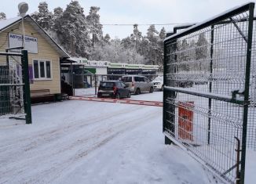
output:
[[[193,32],[199,31],[199,30],[201,30],[205,27],[213,26],[214,23],[221,22],[221,21],[225,20],[226,18],[229,18],[231,16],[235,16],[236,14],[244,13],[244,12],[249,13],[248,35],[247,35],[247,56],[246,56],[246,67],[245,67],[246,71],[245,71],[245,84],[244,84],[245,85],[245,87],[244,87],[244,90],[245,90],[244,91],[244,100],[236,100],[236,99],[233,99],[233,98],[225,98],[225,97],[221,97],[221,96],[214,95],[214,94],[207,94],[207,93],[203,94],[203,93],[200,93],[200,92],[192,92],[192,91],[189,91],[189,90],[186,90],[186,89],[168,87],[168,86],[172,86],[172,85],[171,84],[166,84],[167,71],[169,70],[169,71],[171,71],[170,73],[172,73],[172,71],[174,71],[175,68],[170,68],[167,65],[168,60],[167,60],[167,56],[166,56],[166,54],[167,54],[166,45],[168,45],[172,42],[175,43],[177,41],[177,38],[181,38],[185,35],[192,34]],[[170,117],[168,118],[168,116],[170,116],[170,115],[165,113],[166,110],[170,110],[175,114],[175,106],[166,103],[165,99],[167,97],[175,97],[175,92],[181,92],[181,93],[190,94],[190,95],[194,95],[194,96],[206,97],[206,98],[209,99],[209,102],[211,101],[211,99],[218,99],[218,100],[222,100],[222,101],[229,102],[229,103],[236,103],[236,104],[243,105],[243,131],[242,131],[242,150],[241,150],[242,154],[241,154],[240,181],[236,181],[236,182],[239,182],[240,184],[243,184],[244,183],[244,177],[245,177],[245,161],[246,161],[246,147],[247,147],[247,115],[248,115],[248,106],[250,104],[250,102],[249,102],[249,89],[250,89],[250,72],[251,72],[251,45],[252,45],[252,34],[253,34],[253,20],[254,20],[254,2],[249,2],[245,5],[241,5],[239,8],[231,9],[229,12],[221,13],[219,16],[217,16],[217,17],[215,16],[211,20],[208,20],[206,22],[199,23],[195,26],[189,27],[187,30],[182,31],[179,34],[173,34],[173,33],[172,34],[167,34],[167,37],[164,40],[163,134],[165,135],[165,143],[166,144],[175,143],[178,146],[181,146],[181,148],[183,150],[187,150],[188,153],[196,159],[196,161],[199,161],[201,164],[203,164],[210,171],[213,171],[215,174],[217,174],[218,178],[221,179],[223,182],[227,182],[227,181],[223,177],[221,177],[221,175],[220,175],[220,173],[218,173],[218,171],[214,171],[214,169],[212,169],[210,167],[210,165],[207,165],[207,163],[205,161],[202,161],[199,157],[196,157],[196,155],[194,155],[193,153],[190,153],[189,150],[185,148],[185,146],[182,146],[181,143],[179,143],[176,139],[174,139],[172,136],[170,136],[171,132],[166,132],[166,129],[175,130],[175,127],[171,128],[170,124],[166,124],[166,119],[168,121],[175,122],[175,115],[171,118]],[[214,38],[214,35],[212,34],[211,41],[213,40],[213,38]],[[175,47],[175,45],[176,44],[174,44],[174,47]],[[212,52],[212,47],[210,48],[210,50]],[[177,56],[176,56],[176,58],[174,56],[174,60],[177,60]],[[170,81],[170,83],[172,83],[172,81]],[[174,137],[175,137],[175,135],[174,135]],[[209,141],[209,139],[208,139],[208,141]]]

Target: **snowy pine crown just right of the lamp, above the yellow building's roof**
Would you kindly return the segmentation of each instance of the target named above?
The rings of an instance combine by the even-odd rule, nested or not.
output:
[[[38,13],[34,13],[32,18],[41,26],[45,31],[49,31],[52,27],[53,14],[48,10],[48,4],[46,2],[40,2],[38,5]]]

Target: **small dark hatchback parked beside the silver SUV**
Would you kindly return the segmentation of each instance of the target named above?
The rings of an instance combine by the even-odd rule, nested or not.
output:
[[[97,97],[130,98],[130,89],[122,81],[101,81]]]

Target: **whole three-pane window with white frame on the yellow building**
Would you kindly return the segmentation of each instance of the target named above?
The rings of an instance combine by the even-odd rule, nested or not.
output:
[[[51,74],[51,63],[47,60],[34,60],[34,76],[35,79],[50,79]]]

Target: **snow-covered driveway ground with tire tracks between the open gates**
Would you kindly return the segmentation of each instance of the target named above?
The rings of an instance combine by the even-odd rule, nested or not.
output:
[[[31,125],[0,119],[0,183],[209,183],[164,145],[162,107],[69,100],[32,106],[32,116]]]

